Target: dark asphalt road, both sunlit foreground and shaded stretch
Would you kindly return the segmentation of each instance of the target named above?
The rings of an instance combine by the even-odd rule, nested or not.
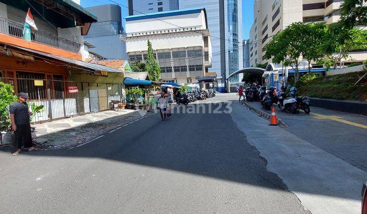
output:
[[[0,149],[0,213],[308,212],[230,114],[159,120],[144,117],[70,150],[13,157]]]

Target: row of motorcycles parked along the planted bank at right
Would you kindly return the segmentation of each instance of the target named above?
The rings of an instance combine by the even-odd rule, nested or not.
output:
[[[306,114],[310,113],[310,100],[307,96],[299,97],[297,88],[292,87],[290,92],[285,94],[286,87],[282,86],[277,92],[275,87],[252,86],[246,87],[245,96],[247,101],[260,101],[264,109],[270,110],[273,104],[277,104],[279,109],[292,114],[303,110]]]

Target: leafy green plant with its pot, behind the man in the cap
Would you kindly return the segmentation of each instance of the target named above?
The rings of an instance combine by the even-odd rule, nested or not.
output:
[[[11,144],[12,142],[9,105],[16,99],[13,87],[0,82],[0,131],[2,144]]]

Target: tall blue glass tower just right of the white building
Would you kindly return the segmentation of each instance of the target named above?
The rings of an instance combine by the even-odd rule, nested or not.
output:
[[[242,69],[242,1],[241,0],[179,0],[179,9],[203,7],[207,14],[207,23],[212,37],[212,68],[209,72],[217,72],[225,78]],[[238,75],[231,82],[241,81]],[[223,85],[224,86],[224,85]]]

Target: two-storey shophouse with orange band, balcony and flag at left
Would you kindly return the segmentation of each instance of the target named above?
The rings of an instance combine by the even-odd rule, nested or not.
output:
[[[33,122],[108,110],[111,100],[123,99],[121,70],[82,61],[83,36],[96,16],[70,1],[32,1],[36,9],[28,1],[5,2],[0,3],[0,81],[45,106]],[[30,7],[38,30],[23,30]]]

